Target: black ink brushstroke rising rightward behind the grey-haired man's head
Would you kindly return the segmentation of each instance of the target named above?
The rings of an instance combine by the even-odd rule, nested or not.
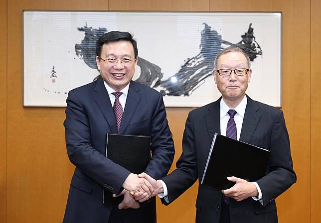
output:
[[[212,30],[206,23],[203,24],[200,53],[195,57],[188,58],[176,74],[154,86],[161,87],[162,90],[160,92],[163,96],[189,96],[200,85],[205,83],[204,80],[212,75],[214,69],[213,61],[223,49],[221,47],[222,43],[242,48],[249,55],[251,61],[257,55],[262,56],[262,49],[255,41],[254,29],[251,27],[252,23],[250,23],[248,31],[241,36],[242,40],[237,44],[222,40],[221,35],[216,30]],[[172,81],[172,77],[174,77],[175,82]]]

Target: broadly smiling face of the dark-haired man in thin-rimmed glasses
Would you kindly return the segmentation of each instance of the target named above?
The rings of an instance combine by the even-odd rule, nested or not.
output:
[[[129,41],[118,41],[106,43],[102,46],[100,57],[103,59],[116,58],[119,62],[110,64],[96,56],[97,67],[106,84],[116,92],[125,88],[132,80],[137,60],[126,64],[120,63],[121,59],[135,59],[134,47]]]

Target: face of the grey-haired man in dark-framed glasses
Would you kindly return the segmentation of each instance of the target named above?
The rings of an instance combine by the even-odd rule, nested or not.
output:
[[[252,71],[247,75],[237,76],[234,72],[230,76],[222,77],[216,70],[237,68],[249,68],[245,56],[240,52],[228,52],[221,55],[217,60],[217,66],[214,71],[214,81],[223,100],[227,104],[238,105],[245,96],[245,91],[251,79]],[[228,103],[229,102],[229,103]]]

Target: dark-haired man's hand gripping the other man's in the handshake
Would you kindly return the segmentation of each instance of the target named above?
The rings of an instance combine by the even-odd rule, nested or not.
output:
[[[154,192],[152,184],[145,178],[138,177],[137,174],[130,173],[123,183],[123,188],[134,193],[146,192],[151,196]]]

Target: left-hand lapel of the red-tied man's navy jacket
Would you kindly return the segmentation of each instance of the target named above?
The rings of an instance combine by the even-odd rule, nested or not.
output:
[[[110,102],[107,90],[104,86],[104,80],[102,78],[97,80],[96,88],[93,93],[94,100],[103,113],[109,127],[113,133],[117,133],[116,118],[114,110]]]

